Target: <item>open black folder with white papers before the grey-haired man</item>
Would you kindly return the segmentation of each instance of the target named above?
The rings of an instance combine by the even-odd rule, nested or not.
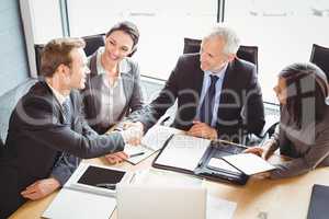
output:
[[[275,169],[254,154],[241,153],[245,149],[227,141],[173,135],[152,166],[240,185],[247,183],[249,175]]]

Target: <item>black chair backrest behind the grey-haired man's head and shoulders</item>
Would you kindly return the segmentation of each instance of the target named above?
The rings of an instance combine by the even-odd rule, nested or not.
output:
[[[201,39],[184,38],[183,54],[198,53]],[[257,46],[240,46],[237,51],[237,57],[256,65],[258,69],[258,47]]]

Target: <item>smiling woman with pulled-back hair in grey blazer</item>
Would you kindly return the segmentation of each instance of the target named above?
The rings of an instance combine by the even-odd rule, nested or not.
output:
[[[136,51],[138,39],[135,24],[117,23],[106,33],[105,46],[88,57],[91,72],[82,93],[84,114],[99,134],[143,107],[139,68],[128,58]]]

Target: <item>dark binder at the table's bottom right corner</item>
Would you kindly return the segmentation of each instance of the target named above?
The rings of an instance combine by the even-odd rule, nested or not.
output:
[[[307,219],[327,219],[329,216],[329,186],[315,184],[311,188]]]

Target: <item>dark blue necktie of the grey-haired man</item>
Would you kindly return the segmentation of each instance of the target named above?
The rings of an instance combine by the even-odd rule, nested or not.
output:
[[[213,120],[213,110],[215,105],[215,94],[216,94],[216,82],[218,77],[211,76],[212,83],[204,96],[203,103],[200,108],[200,119],[202,123],[212,125]]]

